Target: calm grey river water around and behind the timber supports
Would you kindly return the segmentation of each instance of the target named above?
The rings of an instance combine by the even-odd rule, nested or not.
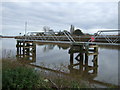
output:
[[[15,39],[0,39],[0,52],[2,57],[16,57],[16,40]],[[37,44],[36,45],[36,65],[45,65],[46,67],[60,68],[64,72],[69,72],[68,65],[70,64],[70,55],[68,53],[70,47]],[[93,78],[104,83],[118,85],[118,52],[117,48],[99,47],[98,52],[98,70],[97,75]],[[7,55],[6,55],[7,54]],[[89,65],[92,65],[92,56],[89,57]],[[75,61],[77,62],[77,61]]]

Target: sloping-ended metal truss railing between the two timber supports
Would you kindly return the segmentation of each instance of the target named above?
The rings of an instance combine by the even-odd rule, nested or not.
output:
[[[39,32],[28,32],[27,35],[22,36],[22,40],[23,41],[27,41],[27,40],[40,40],[40,41],[55,41],[55,42],[60,42],[62,39],[62,41],[67,41],[67,42],[75,42],[74,38],[71,36],[71,34],[69,32],[63,32],[63,36],[62,37],[58,37],[55,33],[49,33],[48,35],[45,35],[43,33],[39,33]]]

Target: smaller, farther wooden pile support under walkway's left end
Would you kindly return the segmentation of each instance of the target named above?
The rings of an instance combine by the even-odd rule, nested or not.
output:
[[[17,59],[36,60],[36,44],[34,42],[17,41]]]

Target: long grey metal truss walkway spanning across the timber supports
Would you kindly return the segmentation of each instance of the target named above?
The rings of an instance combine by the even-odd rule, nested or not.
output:
[[[117,33],[117,35],[106,35],[110,33]],[[49,35],[44,35],[42,33],[38,32],[28,32],[27,35],[23,36],[22,38],[18,39],[19,41],[30,41],[30,42],[42,42],[42,43],[61,43],[61,44],[97,44],[97,45],[120,45],[118,42],[120,40],[119,36],[120,30],[104,30],[104,31],[98,31],[97,33],[94,34],[94,39],[101,41],[105,40],[106,43],[102,42],[92,42],[91,39],[89,39],[87,42],[78,42],[75,41],[75,39],[71,36],[69,32],[63,32],[62,36],[57,36],[55,34],[49,34]],[[58,38],[59,37],[59,38]]]

